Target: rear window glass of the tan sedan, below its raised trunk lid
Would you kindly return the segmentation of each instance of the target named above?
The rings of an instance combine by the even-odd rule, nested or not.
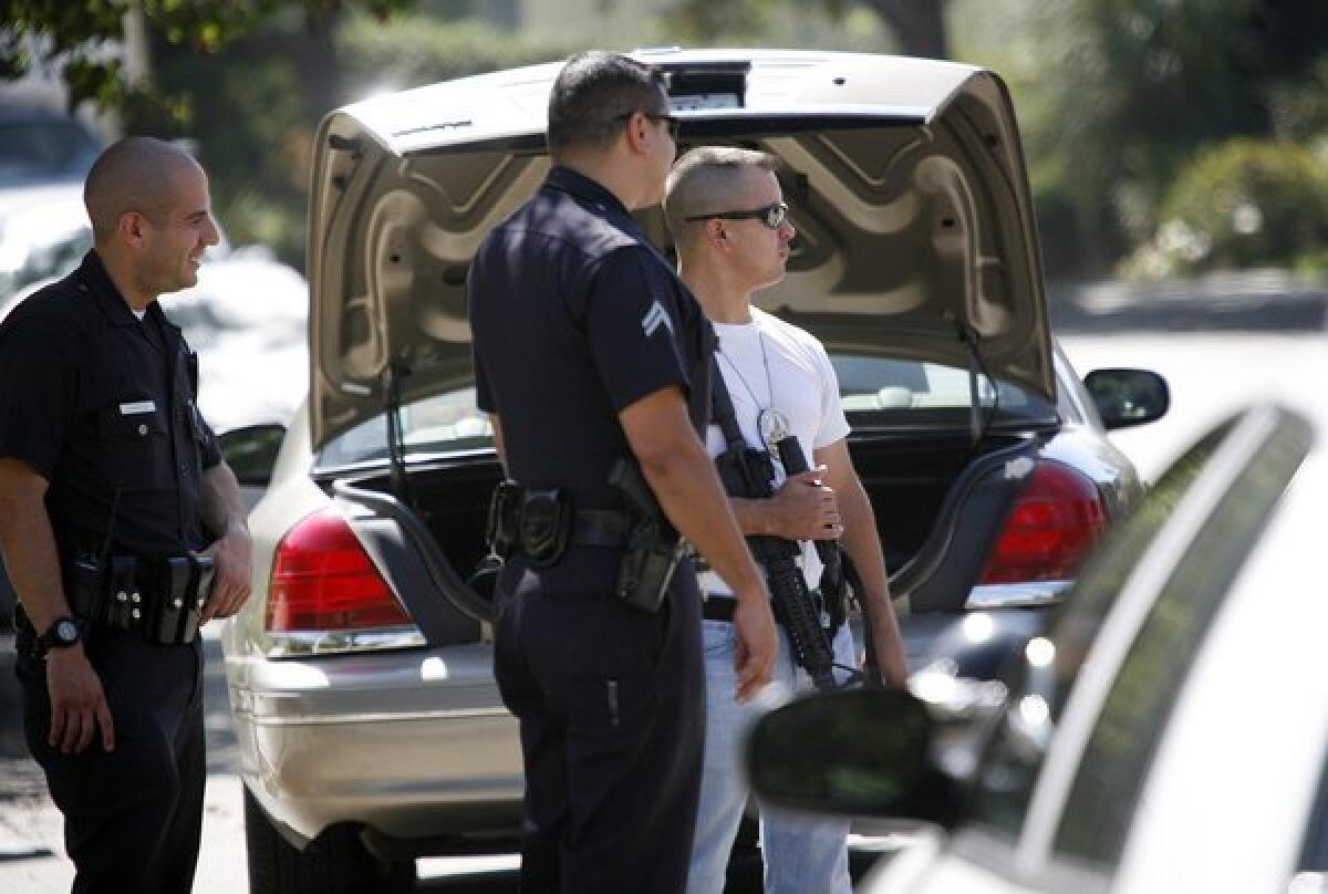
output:
[[[845,413],[855,429],[896,425],[965,426],[972,402],[969,373],[935,363],[833,355]],[[1054,420],[1056,409],[1029,392],[980,377],[979,399],[1001,420]],[[493,448],[493,428],[475,406],[475,389],[434,395],[406,404],[400,414],[405,456],[424,457]],[[356,425],[328,441],[320,468],[373,462],[388,457],[386,414]]]

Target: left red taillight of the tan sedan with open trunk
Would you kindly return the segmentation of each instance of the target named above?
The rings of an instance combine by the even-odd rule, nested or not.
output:
[[[410,623],[410,615],[336,510],[308,515],[282,538],[268,588],[268,632]]]

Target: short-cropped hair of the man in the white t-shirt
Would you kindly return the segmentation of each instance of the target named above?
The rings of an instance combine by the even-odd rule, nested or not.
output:
[[[780,161],[737,146],[700,146],[677,159],[664,187],[664,215],[679,250],[696,239],[700,222],[688,218],[733,209],[748,171],[774,173]]]

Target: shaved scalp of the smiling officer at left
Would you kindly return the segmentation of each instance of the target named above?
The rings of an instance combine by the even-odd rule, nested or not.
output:
[[[161,224],[177,202],[182,174],[202,173],[183,149],[151,137],[125,137],[104,151],[88,173],[84,205],[93,239],[106,244],[127,211]]]

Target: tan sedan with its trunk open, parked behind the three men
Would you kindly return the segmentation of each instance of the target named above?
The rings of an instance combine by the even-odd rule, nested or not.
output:
[[[672,76],[683,149],[741,142],[786,165],[799,235],[758,303],[831,355],[911,659],[991,673],[1005,627],[1036,630],[1142,492],[1104,422],[1167,408],[1158,376],[1085,389],[1056,348],[1000,80],[900,57],[644,57]],[[255,891],[356,890],[515,834],[493,606],[465,583],[501,476],[465,279],[547,170],[558,68],[371,100],[315,139],[309,399],[251,515],[254,596],[223,635]],[[639,219],[667,250],[661,213]],[[227,450],[275,445],[248,434]],[[963,623],[975,610],[985,630]]]

